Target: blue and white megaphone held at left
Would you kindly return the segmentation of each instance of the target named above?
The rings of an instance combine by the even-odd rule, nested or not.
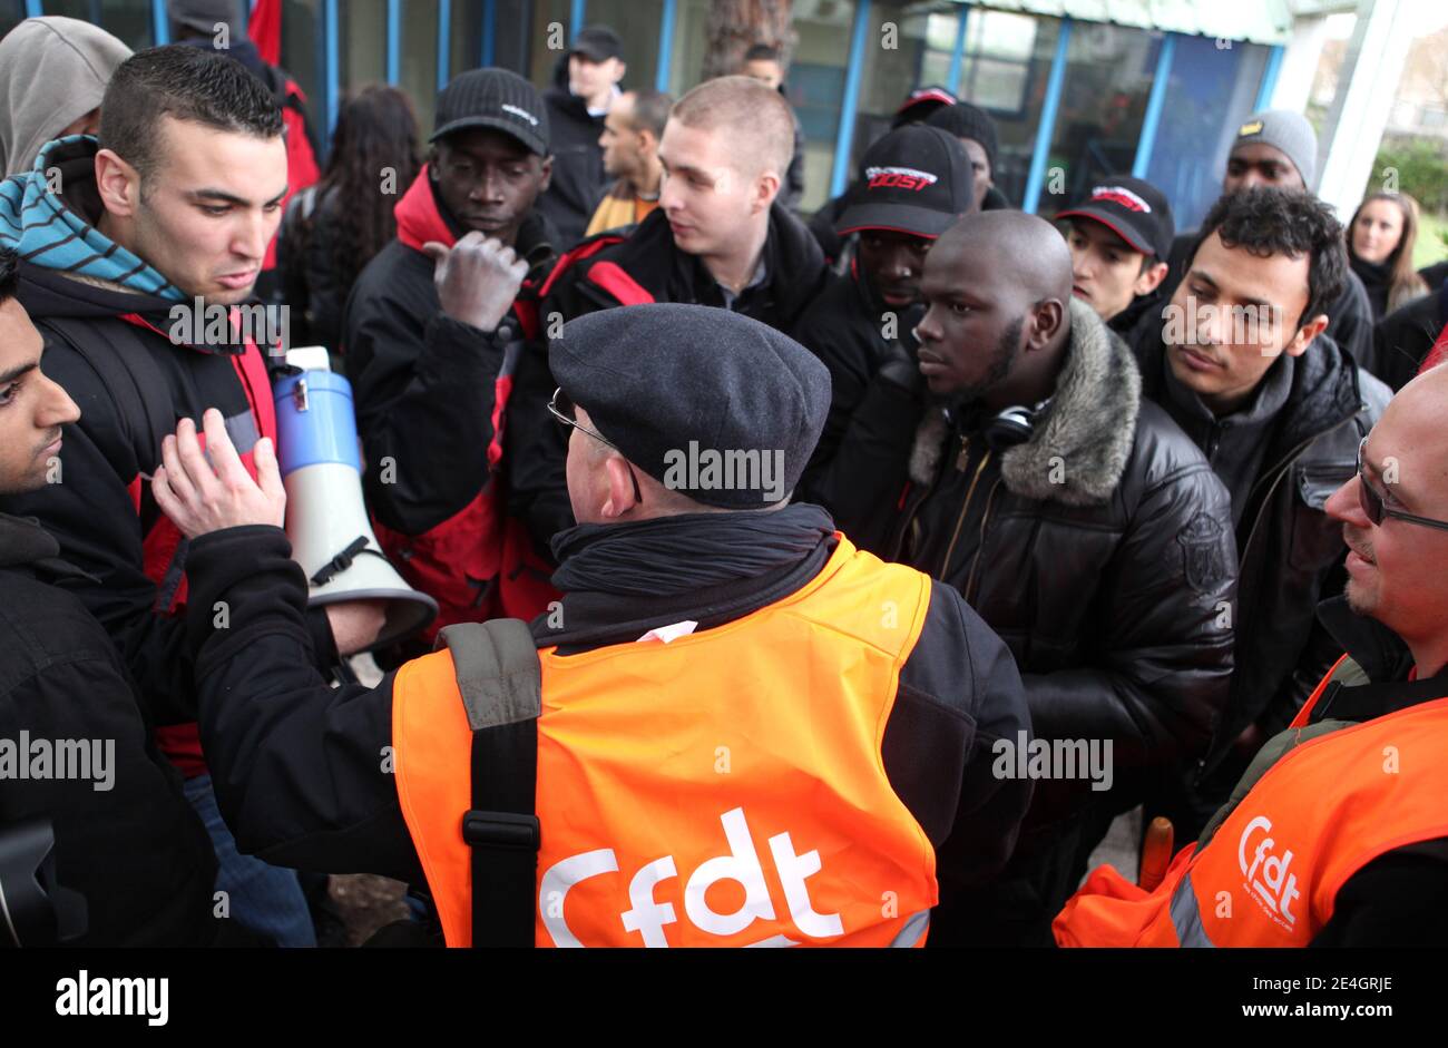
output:
[[[291,556],[307,573],[313,608],[385,601],[387,624],[371,648],[387,647],[426,628],[437,602],[403,580],[372,534],[352,385],[332,371],[324,346],[288,350],[287,363],[300,371],[272,394]]]

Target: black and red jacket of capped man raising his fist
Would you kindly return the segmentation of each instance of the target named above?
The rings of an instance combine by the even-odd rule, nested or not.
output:
[[[358,276],[342,345],[356,397],[363,486],[378,541],[410,585],[437,601],[436,633],[497,615],[531,618],[552,572],[504,517],[502,433],[523,340],[539,336],[536,282],[553,262],[533,213],[515,250],[533,274],[494,331],[443,314],[423,245],[452,246],[424,166],[398,201],[397,239]]]

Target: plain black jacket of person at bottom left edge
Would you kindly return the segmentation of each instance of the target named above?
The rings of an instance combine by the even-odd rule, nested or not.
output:
[[[10,769],[0,776],[0,834],[25,818],[51,821],[55,880],[87,908],[85,934],[67,945],[207,945],[211,840],[156,753],[116,647],[62,589],[96,580],[59,560],[59,549],[35,521],[0,514],[0,740],[26,761],[38,743],[56,757],[62,741],[83,743],[91,777]]]

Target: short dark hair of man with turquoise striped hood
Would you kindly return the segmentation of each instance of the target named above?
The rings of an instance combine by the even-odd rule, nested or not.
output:
[[[262,81],[240,62],[184,43],[138,51],[120,64],[100,104],[100,143],[145,179],[161,159],[164,116],[261,139],[282,133],[281,107]]]

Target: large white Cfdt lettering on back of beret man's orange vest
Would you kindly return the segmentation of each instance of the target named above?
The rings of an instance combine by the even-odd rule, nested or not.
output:
[[[730,854],[717,855],[701,863],[683,887],[683,915],[695,928],[711,935],[737,935],[756,921],[776,921],[775,903],[769,896],[769,886],[765,883],[765,867],[759,861],[754,841],[749,832],[749,822],[744,819],[744,809],[734,808],[720,816],[724,825],[724,838],[728,841]],[[809,887],[805,883],[811,876],[820,873],[820,853],[809,850],[799,855],[788,832],[775,834],[769,838],[769,853],[775,861],[779,882],[785,887],[785,902],[789,903],[788,916],[805,937],[815,939],[834,938],[844,934],[844,922],[838,913],[817,913],[809,899]],[[588,880],[610,873],[618,873],[618,855],[613,848],[595,848],[571,855],[555,863],[543,874],[539,887],[539,913],[543,916],[543,926],[559,947],[582,947],[573,931],[568,926],[565,915],[569,890]],[[679,915],[670,902],[659,902],[654,897],[654,887],[670,877],[679,877],[679,869],[673,855],[656,858],[646,863],[633,873],[628,880],[628,897],[620,899],[620,906],[627,903],[627,909],[620,912],[624,931],[637,932],[643,937],[646,947],[668,947],[665,926],[678,924]],[[705,893],[714,884],[733,880],[744,887],[744,903],[733,913],[718,913],[705,900]],[[788,935],[763,937],[759,947],[792,947],[799,941]]]

